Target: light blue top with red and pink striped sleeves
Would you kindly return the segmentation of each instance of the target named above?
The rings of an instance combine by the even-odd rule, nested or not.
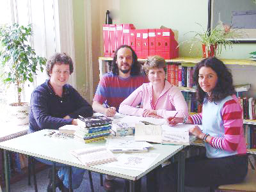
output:
[[[246,154],[242,114],[241,105],[232,95],[220,102],[205,100],[202,113],[191,116],[193,124],[202,124],[203,132],[212,136],[205,144],[207,157]]]

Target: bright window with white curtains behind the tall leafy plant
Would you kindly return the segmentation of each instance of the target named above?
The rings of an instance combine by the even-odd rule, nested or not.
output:
[[[59,12],[65,12],[68,17],[61,18]],[[69,13],[69,14],[68,14]],[[27,26],[32,24],[33,37],[31,38],[31,47],[35,49],[36,54],[49,58],[54,52],[67,52],[74,60],[74,54],[70,50],[74,50],[72,47],[72,1],[56,0],[1,0],[0,1],[0,24],[8,23],[12,24],[17,22],[21,25]],[[65,21],[65,26],[60,27],[61,20]],[[71,24],[70,24],[71,22]],[[65,33],[67,31],[67,33]],[[70,35],[71,34],[71,35]],[[71,40],[70,40],[71,39]],[[60,44],[61,40],[65,41]],[[68,45],[66,44],[68,42]],[[0,47],[1,49],[1,47]],[[0,71],[3,70],[0,67]],[[72,74],[70,84],[74,86],[75,75]],[[22,92],[22,102],[29,102],[31,92],[33,89],[42,84],[47,79],[45,72],[37,72],[34,78],[33,84],[25,84],[24,91]],[[76,87],[76,86],[75,86]],[[6,110],[3,110],[3,106],[6,103],[14,102],[14,89],[8,88],[0,83],[0,118],[6,118]],[[1,119],[0,119],[1,120]]]

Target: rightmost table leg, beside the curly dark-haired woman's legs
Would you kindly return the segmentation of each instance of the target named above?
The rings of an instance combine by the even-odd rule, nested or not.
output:
[[[185,172],[185,152],[184,150],[180,151],[178,154],[178,191],[184,191],[184,172]]]

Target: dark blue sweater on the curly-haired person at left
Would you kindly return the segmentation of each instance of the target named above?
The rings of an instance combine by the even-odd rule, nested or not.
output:
[[[70,85],[63,86],[62,97],[54,93],[49,80],[41,84],[31,94],[29,113],[29,129],[31,132],[41,129],[58,129],[63,125],[71,125],[72,118],[92,116],[92,106]],[[64,119],[64,116],[70,119]]]

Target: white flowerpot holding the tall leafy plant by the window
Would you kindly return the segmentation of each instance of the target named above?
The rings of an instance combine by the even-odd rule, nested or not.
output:
[[[10,122],[15,125],[25,125],[29,123],[29,103],[22,102],[21,104],[22,106],[17,106],[17,103],[11,103],[8,106]]]

